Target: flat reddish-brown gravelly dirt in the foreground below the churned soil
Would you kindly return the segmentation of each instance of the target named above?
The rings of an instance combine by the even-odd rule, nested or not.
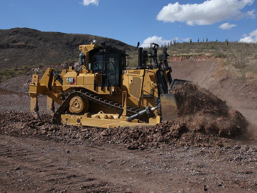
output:
[[[219,184],[229,187],[226,192],[257,190],[254,180],[245,182],[257,178],[256,168],[249,169],[254,163],[228,162],[230,148],[172,146],[132,151],[114,144],[5,135],[0,135],[0,148],[1,153],[10,152],[10,157],[0,156],[0,189],[9,192],[22,188],[25,192],[200,192],[203,185],[212,192],[224,192]],[[18,156],[12,156],[18,151]]]

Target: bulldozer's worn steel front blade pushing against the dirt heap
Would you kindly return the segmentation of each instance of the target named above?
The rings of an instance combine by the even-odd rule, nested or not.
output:
[[[174,88],[185,82],[192,82],[188,80],[174,79],[169,87],[169,94],[161,94],[161,114],[163,121],[171,121],[177,117],[177,104],[174,94]]]

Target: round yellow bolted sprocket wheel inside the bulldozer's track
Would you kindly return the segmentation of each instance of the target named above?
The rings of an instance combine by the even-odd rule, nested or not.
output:
[[[71,113],[75,113],[75,114],[79,115],[87,110],[88,110],[88,100],[87,99],[76,96],[70,100],[69,111]]]

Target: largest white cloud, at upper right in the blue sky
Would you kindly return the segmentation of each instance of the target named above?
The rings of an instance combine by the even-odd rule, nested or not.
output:
[[[201,4],[182,4],[178,2],[164,6],[157,20],[164,22],[185,22],[187,25],[211,25],[226,19],[255,17],[255,10],[242,12],[254,0],[207,0]]]

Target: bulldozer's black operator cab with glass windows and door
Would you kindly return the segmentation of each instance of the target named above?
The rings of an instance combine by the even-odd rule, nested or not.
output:
[[[121,72],[126,67],[126,54],[111,45],[94,49],[89,55],[89,70],[101,76],[101,87],[119,87]]]

